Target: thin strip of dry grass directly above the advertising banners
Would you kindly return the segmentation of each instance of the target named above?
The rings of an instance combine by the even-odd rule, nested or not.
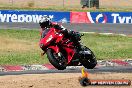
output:
[[[130,12],[132,8],[88,8],[81,9],[80,7],[47,7],[47,8],[31,8],[31,7],[0,7],[1,10],[44,10],[44,11],[79,11],[79,12]]]

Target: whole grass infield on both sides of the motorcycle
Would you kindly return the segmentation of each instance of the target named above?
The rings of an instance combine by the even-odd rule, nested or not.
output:
[[[0,65],[48,63],[41,58],[38,30],[0,30]],[[84,45],[92,49],[97,59],[132,58],[132,37],[85,34]]]

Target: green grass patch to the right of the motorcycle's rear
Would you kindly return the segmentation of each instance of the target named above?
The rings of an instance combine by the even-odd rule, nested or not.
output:
[[[132,58],[131,37],[86,34],[83,42],[95,52],[98,59]]]

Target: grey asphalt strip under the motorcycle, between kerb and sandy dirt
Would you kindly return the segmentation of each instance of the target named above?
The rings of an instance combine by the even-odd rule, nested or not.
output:
[[[95,69],[86,69],[90,73],[102,73],[102,72],[116,72],[116,73],[132,73],[132,66],[118,66],[118,67],[101,67]],[[49,73],[81,73],[81,68],[69,68],[65,70],[27,70],[27,71],[9,71],[0,72],[0,76],[4,75],[21,75],[21,74],[49,74]]]

